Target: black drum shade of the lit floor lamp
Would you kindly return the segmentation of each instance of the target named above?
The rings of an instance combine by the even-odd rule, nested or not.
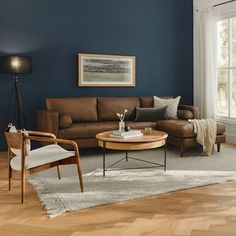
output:
[[[0,73],[31,74],[32,58],[25,56],[0,56]]]

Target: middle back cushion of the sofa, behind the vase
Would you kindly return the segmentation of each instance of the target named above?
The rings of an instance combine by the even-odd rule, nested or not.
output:
[[[118,121],[116,113],[123,113],[125,109],[128,110],[125,121],[132,121],[136,107],[140,106],[139,97],[100,97],[97,102],[100,121]]]

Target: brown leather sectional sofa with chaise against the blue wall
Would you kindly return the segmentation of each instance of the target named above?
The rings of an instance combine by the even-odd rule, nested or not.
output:
[[[168,97],[166,97],[168,98]],[[118,129],[117,112],[128,110],[125,122],[133,129],[151,127],[168,133],[168,143],[184,149],[199,146],[193,125],[188,119],[198,119],[198,108],[180,105],[178,120],[135,122],[136,107],[153,107],[153,97],[81,97],[48,98],[46,109],[37,111],[40,131],[51,132],[59,138],[71,139],[80,148],[97,147],[95,135],[99,132]],[[217,124],[216,144],[225,142],[225,127]]]

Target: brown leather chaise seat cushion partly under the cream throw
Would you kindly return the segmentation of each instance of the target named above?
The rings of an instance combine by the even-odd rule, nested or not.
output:
[[[181,138],[194,138],[193,124],[187,120],[160,120],[157,121],[158,130],[166,132],[168,135]],[[217,123],[217,135],[225,132],[225,126]]]

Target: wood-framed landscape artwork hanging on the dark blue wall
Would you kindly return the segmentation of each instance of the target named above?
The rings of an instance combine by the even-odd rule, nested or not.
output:
[[[135,57],[78,54],[79,86],[135,87]]]

